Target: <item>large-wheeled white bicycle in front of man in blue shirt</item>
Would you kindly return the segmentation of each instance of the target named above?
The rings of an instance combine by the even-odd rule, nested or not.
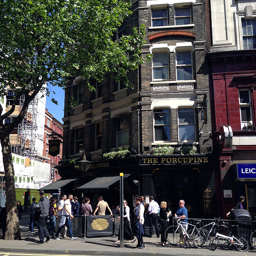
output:
[[[174,218],[173,218],[174,219]],[[186,241],[188,243],[188,247],[191,245],[190,242],[193,243],[193,245],[197,248],[203,249],[207,248],[210,245],[211,238],[210,234],[207,230],[204,230],[202,228],[197,228],[196,225],[199,225],[201,220],[196,223],[196,225],[192,225],[190,223],[186,223],[181,221],[180,219],[176,219],[177,225],[172,225],[166,228],[165,230],[165,237],[166,240],[170,245],[183,245],[186,247],[186,244],[183,243],[183,233],[186,235]],[[188,234],[184,225],[182,224],[188,224],[190,226],[193,226],[193,230],[191,234]]]

